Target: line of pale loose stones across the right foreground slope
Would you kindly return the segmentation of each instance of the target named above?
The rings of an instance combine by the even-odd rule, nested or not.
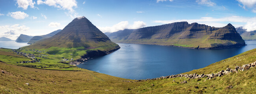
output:
[[[146,80],[135,80],[135,82],[138,81],[148,81],[148,80],[158,80],[158,79],[167,79],[167,78],[181,78],[181,77],[185,77],[185,78],[189,78],[190,79],[196,79],[196,78],[206,78],[206,80],[211,80],[212,78],[216,78],[216,77],[221,77],[224,75],[228,75],[229,73],[237,73],[238,71],[245,71],[248,70],[252,67],[256,66],[256,61],[254,63],[249,63],[249,64],[245,64],[242,67],[240,66],[235,66],[235,69],[230,69],[227,68],[226,70],[222,70],[219,71],[215,74],[211,73],[211,74],[176,74],[176,75],[170,75],[170,76],[162,76],[160,78],[153,78],[153,79],[146,79]],[[133,82],[133,81],[125,81],[125,82]],[[187,83],[187,81],[182,81],[181,83]]]

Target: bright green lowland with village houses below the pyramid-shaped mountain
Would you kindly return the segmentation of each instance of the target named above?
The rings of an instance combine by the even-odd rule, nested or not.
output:
[[[15,53],[11,49],[0,49],[0,61],[8,64],[19,65],[24,67],[32,67],[37,69],[50,69],[50,70],[64,70],[64,71],[79,71],[76,66],[69,65],[70,61],[78,60],[86,54],[87,51],[111,51],[118,49],[118,45],[110,45],[105,47],[98,47],[94,49],[86,49],[84,47],[77,48],[60,48],[50,47],[48,49],[17,49],[17,52],[26,54],[34,54],[34,60],[40,59],[40,62],[34,63],[20,63],[20,61],[32,61],[30,55],[24,57],[23,55]],[[72,55],[71,55],[72,54]],[[68,59],[68,60],[64,60]],[[73,60],[71,60],[73,59]]]

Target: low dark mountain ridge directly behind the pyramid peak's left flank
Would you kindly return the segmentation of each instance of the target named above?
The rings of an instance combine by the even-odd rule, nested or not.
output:
[[[33,44],[39,40],[45,39],[45,38],[50,38],[52,36],[54,36],[55,34],[59,33],[60,31],[62,31],[61,29],[53,31],[52,33],[49,34],[45,34],[42,36],[34,36],[33,38],[30,39],[30,41],[28,42],[28,44]]]

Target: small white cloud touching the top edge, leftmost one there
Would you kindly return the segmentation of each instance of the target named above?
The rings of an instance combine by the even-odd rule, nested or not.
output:
[[[32,0],[16,0],[17,4],[19,5],[18,7],[22,7],[24,10],[28,9],[28,6],[30,6],[31,8],[35,8],[34,4],[36,4],[36,2],[33,2]]]

